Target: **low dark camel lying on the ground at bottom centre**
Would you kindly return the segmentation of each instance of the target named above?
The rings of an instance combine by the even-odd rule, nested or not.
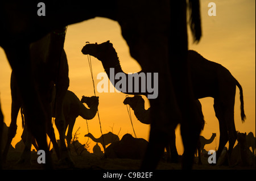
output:
[[[123,135],[120,141],[113,142],[106,148],[108,158],[143,159],[148,142],[143,138],[134,138],[131,134]]]

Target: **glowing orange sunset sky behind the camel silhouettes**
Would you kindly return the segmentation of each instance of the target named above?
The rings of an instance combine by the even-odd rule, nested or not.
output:
[[[216,3],[216,16],[208,16],[209,2]],[[236,105],[234,119],[237,131],[253,132],[255,136],[255,1],[253,0],[215,0],[201,1],[201,19],[203,26],[203,37],[199,44],[193,44],[189,32],[189,49],[196,50],[210,61],[217,62],[227,68],[240,82],[243,88],[243,99],[245,102],[246,121],[242,124],[240,117],[239,89],[236,93]],[[82,23],[68,26],[64,49],[67,53],[69,63],[69,90],[73,91],[79,99],[82,95],[92,96],[93,85],[90,75],[87,56],[81,53],[86,41],[90,43],[103,43],[110,40],[118,53],[123,71],[126,73],[137,72],[141,67],[130,57],[126,41],[121,36],[121,28],[117,22],[105,18],[90,19]],[[97,83],[97,74],[104,72],[102,64],[96,58],[92,58],[94,81]],[[160,60],[156,60],[160,61]],[[3,49],[0,48],[0,96],[2,111],[5,115],[5,123],[10,125],[11,121],[11,92],[10,92],[11,69],[7,62]],[[98,93],[100,105],[98,107],[102,132],[118,134],[119,138],[126,133],[133,134],[126,106],[123,104],[126,94],[122,93]],[[143,97],[146,101],[146,97]],[[217,149],[220,132],[218,120],[213,110],[213,98],[200,99],[205,116],[205,128],[201,132],[205,138],[210,138],[212,133],[217,133],[216,141],[206,145],[205,149]],[[149,107],[148,101],[146,108]],[[140,123],[134,113],[131,113],[133,125],[137,137],[148,140],[150,127]],[[18,115],[18,131],[12,142],[15,146],[20,141],[22,124],[20,114]],[[98,117],[88,120],[89,132],[98,138],[101,136]],[[79,141],[85,144],[87,138],[86,121],[77,117],[73,133],[80,127]],[[120,130],[121,129],[121,130]],[[55,129],[57,133],[57,129]],[[134,135],[134,134],[133,134]],[[59,139],[59,136],[57,136]],[[176,129],[176,145],[179,154],[183,153],[183,145],[180,138],[179,127]],[[89,151],[92,152],[96,144],[89,140]]]

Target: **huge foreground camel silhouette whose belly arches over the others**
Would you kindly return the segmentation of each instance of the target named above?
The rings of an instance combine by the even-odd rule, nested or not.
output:
[[[55,28],[101,16],[117,20],[121,26],[122,36],[129,45],[131,56],[145,72],[159,73],[158,98],[150,101],[154,113],[151,116],[150,142],[142,168],[154,169],[157,166],[168,137],[172,137],[170,130],[174,132],[174,128],[166,129],[166,125],[173,127],[172,123],[178,121],[181,123],[185,150],[183,168],[191,169],[196,140],[200,134],[200,118],[195,111],[191,79],[187,69],[187,7],[193,40],[198,42],[201,37],[199,0],[189,0],[188,3],[185,0],[123,0],[102,3],[47,1],[46,16],[38,16],[36,3],[38,2],[1,1],[0,46],[5,50],[14,71],[22,105],[27,114],[27,126],[35,136],[39,149],[47,150],[47,110],[43,108],[44,98],[39,96],[35,79],[31,76],[32,59],[29,56],[29,44]],[[85,7],[90,9],[85,11]],[[155,60],[160,60],[159,64],[155,64]],[[167,110],[171,110],[172,113],[167,115]],[[34,119],[35,117],[38,119]],[[61,136],[63,135],[61,133]],[[158,136],[167,139],[161,142],[154,141],[160,140]],[[51,168],[51,163],[51,157],[46,151],[44,166]]]

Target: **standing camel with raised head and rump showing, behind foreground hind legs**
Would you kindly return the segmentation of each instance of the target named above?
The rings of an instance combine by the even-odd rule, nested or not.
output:
[[[90,54],[100,60],[109,78],[110,68],[114,69],[114,76],[118,73],[123,73],[117,52],[115,51],[113,44],[109,41],[102,44],[86,44],[84,48],[82,48],[82,53]],[[228,69],[216,62],[207,60],[194,50],[188,50],[188,65],[191,72],[195,99],[205,97],[214,98],[213,107],[220,125],[220,144],[218,146],[217,158],[228,141],[230,155],[237,138],[236,127],[234,124],[236,86],[240,90],[242,122],[244,122],[246,118],[243,110],[242,87]],[[142,71],[138,73],[141,72]],[[123,74],[125,74],[126,77],[129,77],[129,74]],[[111,80],[112,79],[110,79],[110,81]],[[126,94],[128,93],[126,92]]]

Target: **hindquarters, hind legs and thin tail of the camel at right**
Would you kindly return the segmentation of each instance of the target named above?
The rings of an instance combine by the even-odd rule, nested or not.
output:
[[[242,86],[228,69],[216,62],[207,60],[199,53],[189,50],[188,59],[195,98],[200,99],[207,96],[214,98],[213,107],[220,125],[220,144],[216,154],[217,159],[228,141],[230,157],[237,138],[234,124],[236,86],[240,90],[242,123],[246,119],[245,111],[243,110]]]

